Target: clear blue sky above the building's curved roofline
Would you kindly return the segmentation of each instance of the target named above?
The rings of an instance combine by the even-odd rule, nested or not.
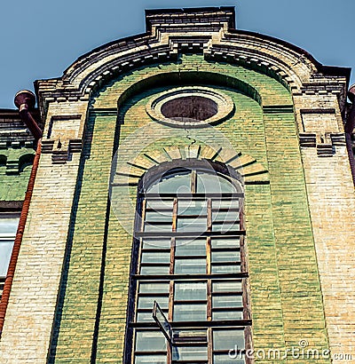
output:
[[[3,0],[0,4],[0,107],[21,89],[52,78],[83,53],[145,31],[144,10],[235,6],[237,28],[275,36],[329,66],[352,67],[355,0]]]

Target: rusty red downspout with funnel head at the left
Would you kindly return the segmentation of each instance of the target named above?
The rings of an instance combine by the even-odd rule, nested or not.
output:
[[[33,189],[35,186],[36,173],[37,173],[37,169],[38,169],[39,158],[41,155],[42,131],[38,127],[35,119],[29,112],[29,110],[35,106],[35,103],[36,103],[36,97],[31,91],[20,91],[15,96],[15,105],[16,105],[16,107],[19,108],[21,120],[24,123],[26,123],[29,131],[32,132],[32,134],[37,142],[37,148],[36,148],[35,160],[33,162],[31,174],[30,174],[29,180],[28,180],[28,189],[26,191],[25,200],[22,205],[19,226],[17,228],[15,241],[13,243],[12,257],[10,259],[9,268],[7,270],[6,279],[4,282],[3,297],[1,298],[1,301],[0,301],[0,337],[1,337],[1,334],[2,334],[3,328],[4,328],[5,313],[7,310],[7,305],[9,303],[13,276],[15,273],[17,259],[19,257],[19,253],[20,253],[22,236],[23,236],[23,232],[25,229],[26,220],[28,218],[29,204],[31,202],[32,192],[33,192]]]

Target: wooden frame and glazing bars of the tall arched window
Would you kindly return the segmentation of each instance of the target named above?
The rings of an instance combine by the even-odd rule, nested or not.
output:
[[[186,161],[185,161],[186,162]],[[177,231],[177,219],[181,218],[181,214],[177,213],[177,202],[178,201],[184,201],[184,198],[191,198],[191,194],[174,194],[174,193],[167,193],[167,194],[149,194],[146,193],[146,189],[144,188],[144,186],[151,186],[154,183],[157,182],[157,176],[163,176],[163,178],[165,176],[168,176],[168,173],[171,172],[171,174],[174,173],[178,173],[179,170],[183,170],[183,168],[190,168],[193,170],[197,170],[197,171],[203,171],[205,172],[206,170],[203,169],[199,169],[199,167],[196,165],[191,166],[191,164],[188,164],[191,161],[187,161],[187,164],[184,162],[179,162],[177,163],[178,165],[175,168],[170,168],[166,169],[165,166],[165,170],[162,170],[162,166],[158,166],[156,168],[154,168],[151,173],[151,171],[149,170],[148,172],[146,172],[144,178],[142,178],[141,182],[143,181],[143,183],[139,184],[138,187],[138,199],[137,199],[137,212],[138,212],[138,218],[136,218],[135,221],[135,233],[134,233],[134,238],[133,238],[133,249],[132,249],[132,259],[131,259],[131,272],[130,272],[130,297],[129,297],[129,307],[128,307],[128,315],[127,315],[127,326],[126,326],[126,331],[127,331],[127,335],[126,335],[126,343],[125,343],[125,360],[127,362],[134,362],[132,360],[134,360],[134,355],[135,355],[135,343],[134,343],[134,337],[136,334],[134,334],[134,332],[137,331],[137,329],[140,328],[151,328],[154,329],[156,328],[156,326],[154,326],[154,323],[150,323],[150,322],[145,322],[145,323],[138,323],[136,321],[136,317],[137,317],[137,313],[140,309],[138,309],[138,297],[142,297],[141,296],[141,292],[138,292],[138,287],[139,284],[142,281],[148,281],[148,280],[156,280],[154,281],[154,283],[158,283],[157,280],[159,280],[159,283],[161,283],[162,281],[166,282],[166,284],[169,284],[169,294],[168,293],[164,293],[164,297],[169,297],[169,307],[168,307],[168,311],[165,310],[164,314],[168,317],[168,320],[171,324],[171,327],[175,330],[177,329],[193,329],[193,328],[205,328],[206,329],[206,337],[207,337],[207,350],[208,350],[208,360],[193,360],[193,362],[203,362],[203,363],[212,363],[212,358],[213,358],[213,354],[214,351],[211,347],[212,343],[211,343],[211,338],[212,338],[212,331],[214,329],[217,328],[221,328],[221,329],[227,329],[227,328],[242,328],[245,338],[245,348],[244,350],[250,349],[251,348],[251,315],[250,315],[250,310],[249,310],[249,300],[248,300],[248,265],[246,263],[246,259],[245,259],[245,230],[244,230],[244,226],[243,226],[243,197],[244,194],[241,192],[241,186],[242,186],[242,181],[241,181],[241,177],[239,174],[237,174],[234,170],[233,170],[233,176],[231,176],[230,169],[228,169],[225,165],[221,164],[221,163],[216,163],[216,162],[209,162],[209,165],[213,166],[213,170],[217,171],[218,175],[223,175],[225,176],[225,173],[228,172],[227,174],[227,180],[229,180],[233,186],[237,186],[237,188],[239,188],[239,192],[236,194],[228,194],[228,193],[224,193],[222,194],[209,194],[209,193],[205,193],[205,194],[201,194],[201,193],[196,193],[196,184],[194,184],[193,187],[193,182],[191,183],[191,188],[192,188],[192,193],[193,193],[193,197],[195,198],[195,201],[206,201],[207,203],[207,211],[206,214],[203,215],[204,217],[206,217],[207,220],[207,226],[206,226],[206,231],[201,233],[193,233],[193,232],[178,232]],[[185,165],[184,165],[185,164]],[[195,163],[196,164],[196,163]],[[199,163],[197,163],[199,164]],[[160,174],[157,173],[160,171]],[[163,171],[163,173],[162,173]],[[196,178],[197,177],[197,172],[195,172],[195,176],[193,177],[193,173],[192,173],[192,178]],[[194,192],[193,192],[193,188],[194,188]],[[233,220],[234,224],[237,223],[239,224],[239,230],[238,231],[234,231],[233,233],[223,233],[223,240],[228,240],[228,239],[233,239],[233,240],[237,240],[237,244],[236,244],[236,248],[212,248],[211,245],[211,240],[213,240],[214,238],[220,238],[222,236],[222,232],[218,232],[218,231],[213,231],[213,221],[212,221],[212,214],[214,212],[219,212],[219,211],[223,211],[223,212],[229,212],[231,209],[230,208],[213,208],[213,200],[216,199],[217,197],[219,197],[218,200],[216,201],[221,201],[221,197],[222,200],[225,201],[233,201],[234,200],[238,200],[238,205],[237,207],[233,208],[232,210],[238,213],[238,220]],[[172,213],[171,213],[171,217],[172,217],[172,221],[171,221],[171,230],[170,231],[157,231],[157,232],[146,232],[145,231],[145,226],[146,226],[146,213],[149,212],[149,207],[147,208],[147,201],[154,201],[154,199],[156,200],[162,200],[162,201],[172,201]],[[204,200],[203,200],[204,199]],[[153,206],[153,205],[151,205]],[[167,208],[162,208],[162,210],[168,211]],[[156,211],[156,210],[155,210]],[[169,210],[170,211],[170,210]],[[184,216],[184,215],[182,215]],[[198,215],[199,217],[201,217],[201,214]],[[195,215],[191,215],[191,219],[195,218]],[[151,221],[150,221],[151,222]],[[159,221],[154,221],[152,220],[152,224],[154,224],[155,226],[164,226],[164,225],[169,225],[169,223],[165,223],[165,224],[160,224]],[[176,262],[176,258],[178,259],[191,259],[193,258],[192,256],[186,255],[185,257],[183,256],[176,256],[176,240],[177,239],[186,239],[186,238],[198,238],[201,240],[206,240],[206,256],[193,256],[195,258],[198,257],[204,257],[205,261],[206,261],[206,271],[205,273],[197,273],[197,274],[188,274],[189,276],[189,280],[193,280],[193,282],[197,281],[206,281],[207,283],[207,297],[205,300],[197,300],[199,302],[202,302],[206,305],[206,320],[203,321],[198,321],[196,323],[196,321],[193,320],[188,320],[188,321],[174,321],[173,320],[173,309],[172,307],[174,307],[174,305],[176,304],[180,304],[179,300],[175,300],[174,299],[174,285],[177,282],[183,282],[186,274],[185,273],[176,273],[174,268],[175,268],[175,262]],[[145,252],[149,252],[149,251],[162,251],[163,253],[168,253],[169,252],[169,248],[165,248],[165,249],[146,249],[143,248],[143,244],[146,241],[150,240],[157,240],[157,239],[164,239],[166,241],[168,241],[170,239],[170,269],[169,269],[169,273],[168,274],[139,274],[138,271],[138,267],[141,266],[141,257],[142,257],[142,253]],[[146,241],[145,241],[146,240]],[[238,242],[239,242],[239,246],[238,246]],[[223,264],[227,264],[227,263],[234,263],[234,262],[212,262],[211,259],[211,254],[212,252],[227,252],[227,251],[235,251],[240,255],[240,269],[241,271],[239,273],[212,273],[212,266],[213,265],[223,265]],[[145,265],[146,263],[143,263],[143,265]],[[155,266],[159,266],[159,265],[167,265],[167,264],[163,264],[163,263],[157,263]],[[154,265],[152,265],[154,266]],[[238,295],[241,296],[241,306],[236,308],[236,307],[213,307],[212,306],[212,298],[213,297],[223,297],[223,296],[228,296],[230,294],[234,294],[237,296],[237,292],[236,291],[229,291],[229,292],[212,292],[212,284],[215,282],[224,282],[224,281],[239,281],[241,282],[241,291],[238,291]],[[162,294],[161,294],[162,295]],[[148,295],[149,297],[154,297],[154,295]],[[159,294],[155,294],[155,297],[159,297]],[[162,297],[162,296],[161,296]],[[152,298],[153,299],[153,298]],[[186,302],[187,304],[196,304],[197,303],[196,300],[186,300],[183,302]],[[153,306],[153,305],[152,305]],[[215,312],[227,312],[227,311],[231,311],[233,310],[233,312],[241,312],[242,314],[242,320],[223,320],[223,322],[220,322],[220,320],[216,321],[213,320],[212,315]],[[146,312],[148,312],[148,309],[146,309]],[[219,322],[218,324],[220,326],[216,326],[216,322]],[[222,326],[221,326],[222,325]],[[232,326],[231,326],[232,325]],[[237,325],[237,326],[236,326]],[[178,344],[179,345],[179,344]],[[177,346],[178,346],[177,345]],[[181,346],[181,345],[180,345]],[[185,344],[186,346],[186,344]],[[187,345],[188,346],[188,345]],[[191,345],[190,345],[191,346]],[[169,344],[167,344],[167,362],[169,363],[175,363],[175,362],[189,362],[189,361],[175,361],[172,359],[171,357],[172,352],[171,352],[171,347]],[[248,359],[246,359],[246,362],[248,362]]]

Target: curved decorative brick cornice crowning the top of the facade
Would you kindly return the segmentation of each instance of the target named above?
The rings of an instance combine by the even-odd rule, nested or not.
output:
[[[58,79],[36,82],[42,112],[52,101],[88,101],[91,91],[130,69],[203,53],[270,75],[295,94],[337,92],[344,103],[348,68],[324,67],[292,44],[235,30],[233,8],[146,12],[147,32],[99,47],[77,59]]]

